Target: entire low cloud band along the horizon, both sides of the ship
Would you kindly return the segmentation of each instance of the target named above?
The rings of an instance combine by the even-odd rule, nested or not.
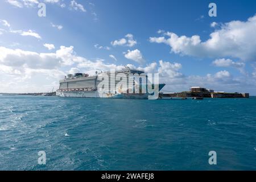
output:
[[[164,90],[168,91],[188,90],[190,86],[197,85],[227,92],[248,92],[247,88],[256,91],[255,77],[234,78],[226,70],[206,76],[185,76],[180,72],[182,65],[170,61],[160,60],[146,67],[128,66],[147,73],[159,72],[160,82],[167,84]],[[61,46],[54,53],[0,47],[0,82],[8,80],[7,84],[1,85],[0,92],[47,92],[53,86],[57,88],[59,79],[67,73],[94,75],[95,71],[122,68],[123,65],[107,64],[102,59],[88,60],[77,56],[72,46]]]

